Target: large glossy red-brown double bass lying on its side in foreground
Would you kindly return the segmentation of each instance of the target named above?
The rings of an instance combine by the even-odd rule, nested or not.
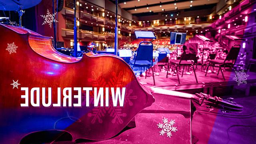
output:
[[[72,140],[106,140],[122,132],[136,114],[151,106],[155,101],[154,94],[193,99],[200,104],[206,102],[210,106],[229,111],[242,110],[239,104],[218,97],[145,87],[138,82],[130,66],[115,55],[89,52],[84,53],[82,58],[75,58],[57,52],[52,47],[52,38],[26,28],[0,24],[0,31],[2,144],[26,143],[24,140],[28,135],[44,131],[52,131],[51,134],[56,139],[65,132]],[[115,107],[111,100],[109,106],[93,106],[95,99],[91,91],[90,106],[87,107],[86,93],[83,91],[81,107],[34,107],[32,103],[27,107],[21,107],[21,104],[26,103],[22,98],[26,93],[21,90],[22,87],[29,90],[52,88],[52,103],[58,102],[58,88],[62,90],[68,87],[93,87],[126,90],[124,106]],[[35,100],[34,97],[38,93],[32,93],[29,94],[29,98]],[[72,94],[77,93],[72,89]],[[42,93],[38,95],[42,100]],[[109,98],[111,99],[111,96]],[[74,98],[72,100],[76,102]],[[61,101],[64,99],[61,98]]]

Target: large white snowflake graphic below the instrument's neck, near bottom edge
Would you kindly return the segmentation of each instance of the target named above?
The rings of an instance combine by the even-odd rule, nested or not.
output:
[[[158,128],[161,128],[162,130],[160,130],[160,136],[164,136],[164,134],[166,133],[167,137],[171,138],[172,136],[172,132],[176,132],[177,131],[177,127],[174,127],[173,125],[175,124],[175,120],[170,120],[170,122],[168,122],[167,118],[164,118],[163,123],[157,124]]]

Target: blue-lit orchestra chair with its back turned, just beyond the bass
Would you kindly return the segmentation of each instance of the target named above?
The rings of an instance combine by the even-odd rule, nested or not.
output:
[[[153,66],[153,44],[152,42],[140,42],[138,46],[138,50],[136,55],[134,56],[133,60],[130,60],[130,66],[132,68],[138,67],[138,68],[146,68],[152,70],[153,80],[154,80],[154,86],[155,84],[155,77],[154,77],[154,70],[152,68]],[[145,79],[147,78],[147,72]]]

